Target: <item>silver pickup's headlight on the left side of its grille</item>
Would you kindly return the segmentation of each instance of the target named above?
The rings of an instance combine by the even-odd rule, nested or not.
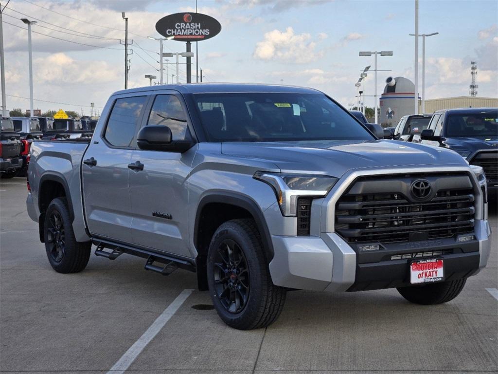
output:
[[[253,178],[273,187],[282,214],[291,217],[296,216],[299,196],[323,197],[338,180],[329,176],[266,172],[256,172]]]

